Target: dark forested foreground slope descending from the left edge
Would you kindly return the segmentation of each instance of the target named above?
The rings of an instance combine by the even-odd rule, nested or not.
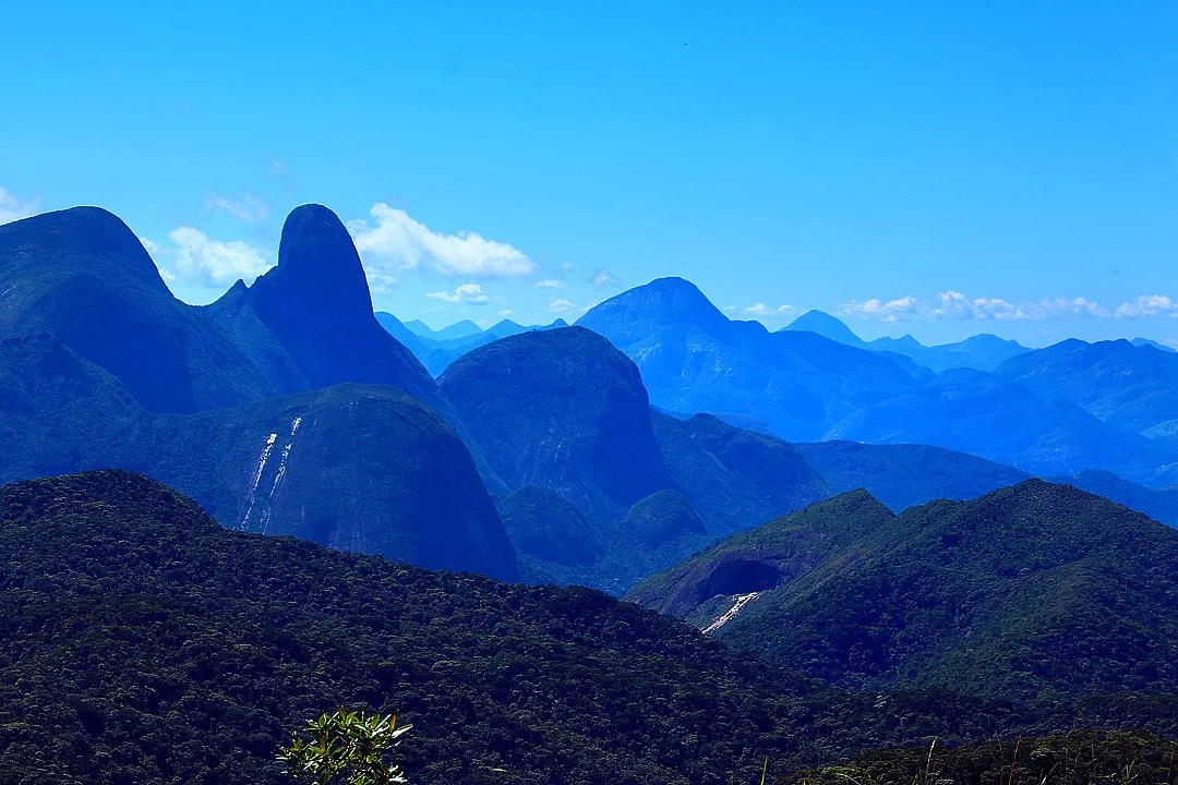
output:
[[[0,553],[6,784],[279,783],[339,705],[399,711],[434,785],[723,783],[1005,711],[833,692],[590,590],[227,532],[125,472],[0,490]]]

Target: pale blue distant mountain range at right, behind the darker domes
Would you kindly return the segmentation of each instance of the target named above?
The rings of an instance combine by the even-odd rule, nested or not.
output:
[[[1147,344],[867,344],[818,312],[769,333],[728,319],[679,278],[623,292],[577,325],[626,352],[651,403],[670,412],[760,424],[790,441],[941,446],[1033,474],[1178,479],[1167,403],[1178,400],[1178,354]]]

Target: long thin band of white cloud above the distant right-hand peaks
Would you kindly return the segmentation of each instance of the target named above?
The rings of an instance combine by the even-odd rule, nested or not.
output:
[[[1170,314],[1178,317],[1178,302],[1163,294],[1147,294],[1114,307],[1100,305],[1084,297],[1053,297],[1041,300],[1013,302],[997,297],[966,297],[949,290],[938,292],[932,300],[906,295],[893,300],[871,298],[843,304],[839,312],[845,317],[878,321],[1035,321],[1055,317],[1091,319],[1134,319]]]

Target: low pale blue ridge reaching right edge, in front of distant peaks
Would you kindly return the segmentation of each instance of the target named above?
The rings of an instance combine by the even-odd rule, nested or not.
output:
[[[1074,404],[1048,403],[1023,385],[966,368],[866,406],[825,438],[937,445],[1031,474],[1100,468],[1151,487],[1169,484],[1176,472],[1174,452],[1164,445],[1103,423]]]

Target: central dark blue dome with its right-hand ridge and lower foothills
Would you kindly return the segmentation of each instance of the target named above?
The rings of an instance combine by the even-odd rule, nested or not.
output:
[[[622,592],[830,493],[779,439],[653,413],[634,362],[581,327],[497,340],[438,381],[496,475],[518,488],[498,505],[530,580]],[[584,553],[571,531],[587,532]]]

